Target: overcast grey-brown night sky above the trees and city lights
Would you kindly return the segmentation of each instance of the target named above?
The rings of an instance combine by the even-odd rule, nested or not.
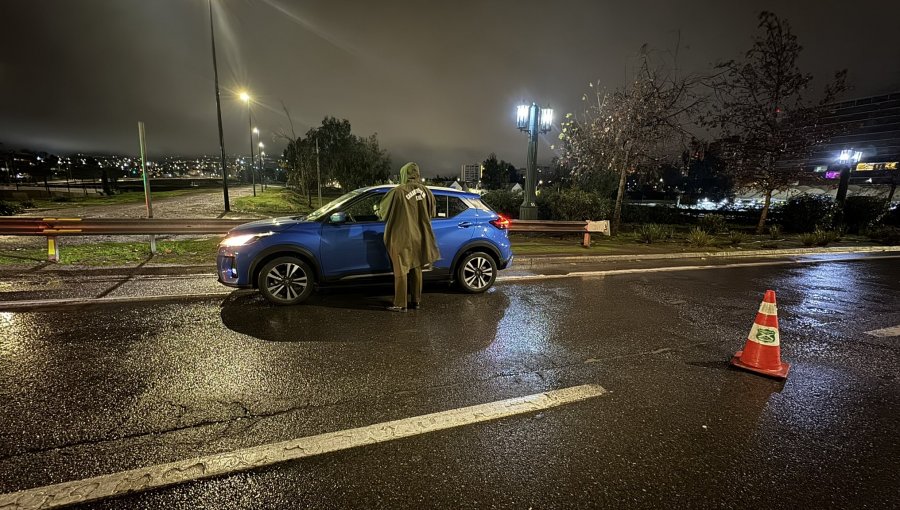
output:
[[[394,166],[457,173],[490,152],[524,166],[520,100],[562,114],[591,81],[621,86],[642,44],[703,71],[751,45],[756,15],[788,19],[817,82],[849,69],[844,98],[900,90],[896,0],[216,0],[225,149],[248,150],[247,88],[269,154],[326,115],[378,133]],[[0,150],[216,154],[206,0],[0,0]],[[547,135],[539,161],[552,156]]]

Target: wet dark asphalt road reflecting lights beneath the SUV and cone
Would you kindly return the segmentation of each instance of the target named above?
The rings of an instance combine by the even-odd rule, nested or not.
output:
[[[727,365],[767,288],[783,383]],[[379,288],[0,312],[0,492],[591,383],[609,393],[84,507],[900,500],[900,337],[865,333],[900,325],[900,258],[429,290],[406,315]]]

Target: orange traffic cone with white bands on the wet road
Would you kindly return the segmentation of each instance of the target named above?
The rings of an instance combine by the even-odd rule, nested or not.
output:
[[[753,328],[743,351],[738,351],[731,364],[758,374],[786,379],[790,365],[781,362],[781,339],[778,335],[778,308],[775,291],[767,290],[759,305]]]

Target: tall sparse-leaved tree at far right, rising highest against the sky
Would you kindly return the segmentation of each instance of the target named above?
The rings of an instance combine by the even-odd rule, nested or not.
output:
[[[772,194],[794,185],[802,172],[790,161],[835,134],[822,118],[826,105],[846,89],[846,71],[835,73],[820,99],[811,100],[812,76],[798,67],[802,47],[788,22],[762,12],[758,28],[761,33],[743,59],[717,66],[710,80],[716,102],[706,124],[735,140],[723,151],[735,184],[764,195],[756,229],[761,233]]]

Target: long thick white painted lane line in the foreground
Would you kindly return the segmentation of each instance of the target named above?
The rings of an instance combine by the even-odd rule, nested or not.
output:
[[[451,409],[366,427],[328,432],[233,452],[0,494],[0,510],[58,508],[203,478],[271,466],[290,460],[356,448],[475,423],[533,413],[606,394],[596,384],[572,386],[525,397]]]

